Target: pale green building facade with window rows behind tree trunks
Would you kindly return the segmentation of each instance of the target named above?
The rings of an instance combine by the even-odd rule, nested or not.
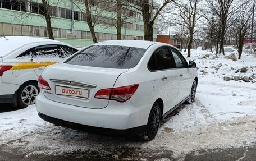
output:
[[[92,0],[92,20],[98,41],[116,39],[116,5]],[[90,45],[92,36],[85,18],[84,0],[50,0],[49,11],[54,39],[71,45]],[[98,3],[100,2],[100,3]],[[95,6],[94,6],[95,5]],[[102,8],[99,13],[97,8]],[[41,0],[0,0],[0,36],[48,37]],[[143,40],[143,17],[139,12],[122,9],[121,35],[126,40]],[[154,40],[157,25],[154,25]]]

